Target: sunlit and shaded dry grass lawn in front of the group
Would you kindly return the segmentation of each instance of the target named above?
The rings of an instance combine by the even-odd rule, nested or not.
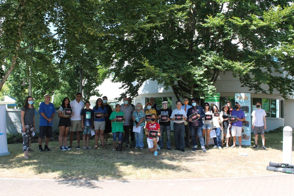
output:
[[[254,140],[254,136],[251,135],[251,137],[251,140]],[[158,157],[154,157],[147,149],[123,147],[123,152],[112,151],[112,145],[108,146],[108,149],[77,150],[73,148],[69,151],[61,151],[58,142],[50,141],[51,152],[39,152],[38,144],[33,143],[32,149],[35,152],[32,152],[33,157],[27,160],[23,158],[21,143],[9,144],[8,150],[11,154],[0,156],[0,177],[145,180],[279,174],[266,171],[266,166],[269,161],[282,162],[283,133],[266,134],[265,137],[267,150],[261,149],[259,136],[258,150],[252,149],[254,142],[251,141],[251,147],[209,149],[207,153],[203,153],[199,148],[196,152],[185,148],[184,153],[163,149],[158,153]],[[146,148],[147,142],[145,137],[144,139]],[[165,144],[164,147],[166,147]],[[76,141],[73,146],[76,147]],[[90,140],[90,146],[94,147],[93,140]],[[174,147],[173,135],[172,146]],[[248,156],[241,155],[246,153]]]

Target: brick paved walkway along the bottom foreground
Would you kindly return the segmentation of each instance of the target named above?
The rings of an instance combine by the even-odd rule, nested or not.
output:
[[[150,196],[151,194],[160,196],[220,194],[228,196],[290,196],[294,195],[294,175],[129,181],[0,178],[0,190],[1,196]]]

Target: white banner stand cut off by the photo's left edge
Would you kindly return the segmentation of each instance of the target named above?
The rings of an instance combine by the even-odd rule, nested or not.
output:
[[[4,114],[4,118],[0,118],[0,156],[3,156],[10,154],[7,147],[6,105],[0,105],[0,114]]]

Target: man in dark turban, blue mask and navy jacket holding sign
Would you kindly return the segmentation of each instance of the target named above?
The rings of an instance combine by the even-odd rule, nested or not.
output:
[[[203,127],[202,118],[205,117],[205,113],[203,108],[199,106],[195,98],[191,99],[191,104],[192,104],[192,107],[187,112],[187,118],[189,121],[189,126],[191,130],[191,135],[192,135],[192,144],[193,144],[192,151],[197,150],[197,135],[198,135],[202,151],[206,152],[204,138],[203,138],[203,131],[202,131],[202,127]],[[197,113],[197,117],[199,119],[192,122],[192,119],[189,116],[195,113]]]

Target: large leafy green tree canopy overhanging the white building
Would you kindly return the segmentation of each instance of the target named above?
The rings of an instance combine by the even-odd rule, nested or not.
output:
[[[101,44],[107,52],[100,63],[112,65],[113,81],[126,89],[121,97],[138,95],[150,79],[171,87],[177,99],[204,98],[216,93],[217,77],[227,71],[254,92],[277,89],[283,97],[293,95],[294,6],[288,1],[109,4],[104,9],[107,36]]]

